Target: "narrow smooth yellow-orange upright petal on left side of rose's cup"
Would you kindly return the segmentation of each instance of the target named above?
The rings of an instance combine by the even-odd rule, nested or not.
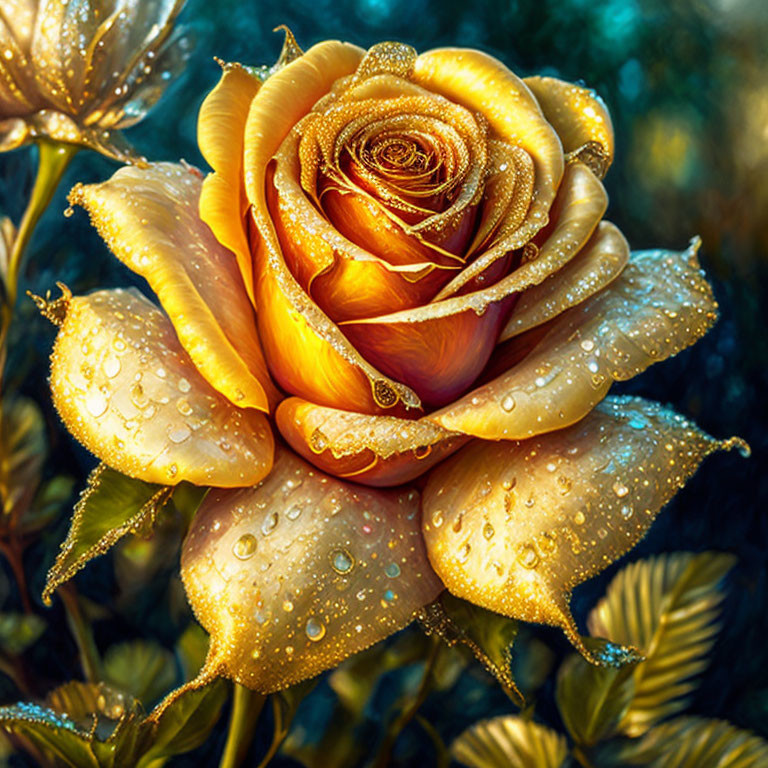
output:
[[[260,80],[239,64],[225,65],[221,80],[206,96],[197,120],[197,143],[214,170],[203,183],[200,218],[237,257],[251,300],[253,264],[244,221],[247,203],[243,144],[248,110],[260,85]]]

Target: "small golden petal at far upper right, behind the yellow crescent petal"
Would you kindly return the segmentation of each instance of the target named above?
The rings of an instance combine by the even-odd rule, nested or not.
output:
[[[563,149],[587,163],[602,179],[613,162],[613,124],[605,102],[589,88],[555,77],[526,77]]]

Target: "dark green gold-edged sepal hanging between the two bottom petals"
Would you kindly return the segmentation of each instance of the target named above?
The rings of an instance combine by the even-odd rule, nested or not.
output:
[[[512,644],[518,624],[498,613],[444,592],[418,614],[427,634],[436,634],[448,645],[464,645],[492,674],[516,703],[523,701],[510,672]]]

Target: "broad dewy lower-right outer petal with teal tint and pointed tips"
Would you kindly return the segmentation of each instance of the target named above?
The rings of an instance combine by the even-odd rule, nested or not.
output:
[[[629,550],[710,453],[712,439],[639,398],[609,398],[578,424],[517,442],[476,442],[424,491],[430,561],[458,597],[562,627],[577,584]]]

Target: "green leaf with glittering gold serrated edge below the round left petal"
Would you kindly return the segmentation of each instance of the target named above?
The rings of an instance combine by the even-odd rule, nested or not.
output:
[[[72,514],[72,524],[56,562],[48,572],[43,600],[94,557],[103,555],[127,533],[154,522],[173,489],[135,480],[99,464]]]

